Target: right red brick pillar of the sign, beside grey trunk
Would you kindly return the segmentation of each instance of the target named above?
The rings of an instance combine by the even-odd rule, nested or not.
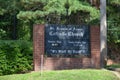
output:
[[[93,67],[100,68],[100,27],[91,26],[91,62]]]

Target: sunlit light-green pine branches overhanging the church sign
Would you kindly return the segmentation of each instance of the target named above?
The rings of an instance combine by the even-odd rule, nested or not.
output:
[[[51,13],[56,12],[58,15],[66,15],[66,4],[67,0],[22,0],[21,4],[26,9],[25,11],[20,11],[17,18],[20,20],[40,20],[42,17],[48,16]],[[38,4],[39,3],[39,4]],[[68,15],[72,12],[77,11],[89,12],[90,21],[94,19],[99,19],[99,10],[92,7],[88,2],[80,0],[68,0]],[[45,23],[45,21],[42,20]]]

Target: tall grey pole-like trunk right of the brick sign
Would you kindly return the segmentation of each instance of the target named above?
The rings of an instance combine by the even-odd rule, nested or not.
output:
[[[106,24],[106,0],[100,0],[100,52],[101,67],[104,67],[107,59],[107,24]]]

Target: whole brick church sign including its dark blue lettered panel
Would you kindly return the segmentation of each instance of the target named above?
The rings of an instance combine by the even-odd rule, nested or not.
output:
[[[33,41],[35,71],[100,68],[98,26],[38,24],[33,28]]]

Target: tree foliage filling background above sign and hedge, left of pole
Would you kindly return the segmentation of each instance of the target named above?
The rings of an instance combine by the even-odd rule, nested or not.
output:
[[[0,0],[0,39],[32,39],[33,24],[99,24],[99,9],[88,0]],[[8,5],[9,4],[9,5]],[[68,10],[66,9],[68,4]],[[71,20],[67,20],[70,17]],[[74,19],[73,19],[74,18]],[[59,20],[58,20],[59,19]],[[16,38],[14,38],[16,36]]]

